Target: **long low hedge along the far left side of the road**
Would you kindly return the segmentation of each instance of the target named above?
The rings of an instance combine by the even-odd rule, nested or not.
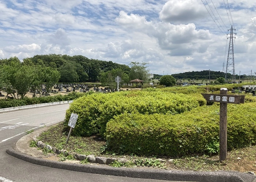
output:
[[[7,107],[18,107],[18,106],[26,106],[32,104],[41,104],[41,103],[49,103],[49,102],[59,102],[65,100],[74,100],[81,96],[91,94],[90,92],[80,93],[80,92],[72,92],[67,95],[54,95],[54,96],[46,96],[46,97],[34,97],[34,98],[23,98],[23,99],[0,99],[0,108]]]

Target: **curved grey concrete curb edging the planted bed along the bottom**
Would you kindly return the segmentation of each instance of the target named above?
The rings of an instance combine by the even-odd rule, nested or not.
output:
[[[36,165],[65,169],[71,171],[114,175],[131,178],[159,179],[173,181],[197,181],[197,182],[255,182],[256,177],[250,174],[229,171],[216,172],[195,172],[195,171],[171,171],[171,170],[143,170],[136,168],[117,168],[111,166],[91,166],[81,164],[70,164],[59,161],[49,161],[32,157],[30,155],[17,152],[14,149],[7,149],[7,154],[30,162]]]

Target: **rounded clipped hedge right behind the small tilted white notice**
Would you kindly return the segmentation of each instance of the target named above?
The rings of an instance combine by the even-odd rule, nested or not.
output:
[[[109,120],[122,113],[175,115],[206,104],[202,95],[198,97],[153,90],[92,94],[76,99],[66,112],[66,121],[74,112],[79,117],[73,134],[103,135]]]

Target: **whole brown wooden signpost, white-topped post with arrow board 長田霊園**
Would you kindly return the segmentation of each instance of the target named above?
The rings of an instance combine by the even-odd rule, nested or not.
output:
[[[227,95],[227,88],[220,94],[202,94],[208,102],[220,102],[219,108],[219,161],[227,159],[227,103],[242,104],[245,95]]]

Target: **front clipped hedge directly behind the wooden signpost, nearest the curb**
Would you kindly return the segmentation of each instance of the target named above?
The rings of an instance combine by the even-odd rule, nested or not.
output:
[[[228,104],[228,150],[256,143],[256,103]],[[179,156],[218,150],[219,106],[177,115],[121,114],[107,123],[108,148],[115,153]]]

